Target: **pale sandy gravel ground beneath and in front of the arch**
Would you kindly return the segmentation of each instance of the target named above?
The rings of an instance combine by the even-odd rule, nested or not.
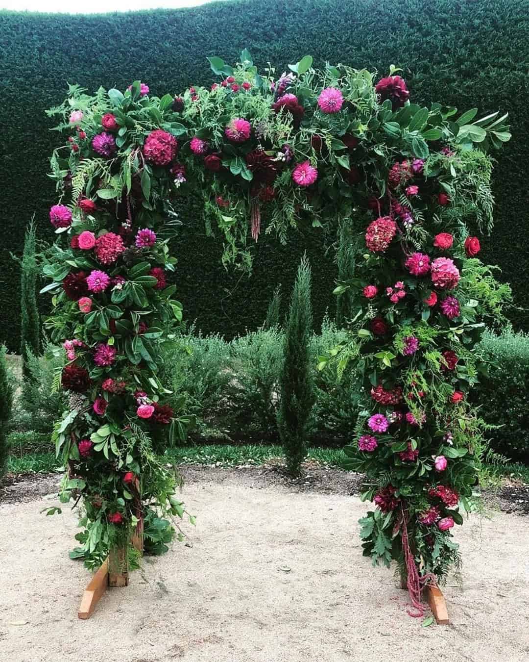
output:
[[[423,628],[391,571],[362,558],[356,496],[234,471],[221,483],[191,475],[183,496],[198,516],[192,547],[145,559],[143,577],[107,591],[89,621],[77,620],[89,574],[67,556],[75,514],[39,514],[52,497],[0,504],[0,659],[529,660],[529,518],[458,529],[463,585],[444,589],[452,624]]]

